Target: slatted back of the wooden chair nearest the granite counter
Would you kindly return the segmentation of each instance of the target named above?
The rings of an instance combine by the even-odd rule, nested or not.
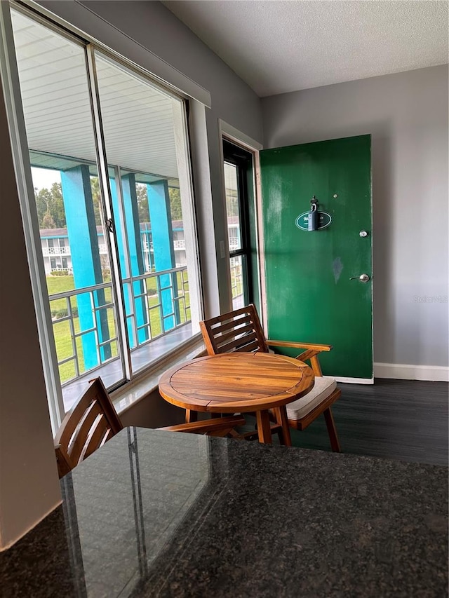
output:
[[[123,426],[100,378],[88,389],[62,421],[55,436],[60,477],[102,447]]]

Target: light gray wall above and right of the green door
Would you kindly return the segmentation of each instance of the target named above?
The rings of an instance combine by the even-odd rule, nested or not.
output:
[[[447,366],[448,67],[266,97],[262,114],[265,148],[373,135],[375,362]]]

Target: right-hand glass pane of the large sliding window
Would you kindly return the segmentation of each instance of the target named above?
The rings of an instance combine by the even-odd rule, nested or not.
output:
[[[187,264],[196,258],[186,250],[193,231],[184,226],[176,135],[182,102],[98,52],[95,65],[135,372],[173,346],[168,337],[178,344],[192,334]]]

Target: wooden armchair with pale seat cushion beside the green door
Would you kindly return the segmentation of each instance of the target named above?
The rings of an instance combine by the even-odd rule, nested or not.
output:
[[[304,430],[323,414],[328,428],[330,447],[333,451],[340,452],[340,442],[330,407],[340,397],[342,391],[337,388],[335,379],[323,376],[318,358],[321,351],[330,351],[332,346],[265,339],[253,304],[217,315],[210,320],[203,320],[200,322],[200,327],[208,355],[229,353],[229,351],[268,353],[269,347],[305,349],[297,355],[296,359],[310,363],[315,374],[315,386],[304,397],[286,405],[288,423],[296,430]]]

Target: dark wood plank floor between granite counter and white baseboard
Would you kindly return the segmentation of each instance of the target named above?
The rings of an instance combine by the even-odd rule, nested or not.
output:
[[[373,386],[339,386],[333,414],[343,452],[448,465],[448,383],[376,379]],[[330,450],[323,417],[304,432],[292,430],[292,441]]]

